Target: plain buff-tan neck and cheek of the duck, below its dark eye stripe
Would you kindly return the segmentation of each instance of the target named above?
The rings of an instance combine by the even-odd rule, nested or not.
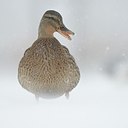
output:
[[[47,21],[41,21],[38,30],[38,38],[54,38],[54,32],[55,29],[52,25],[50,25]]]

